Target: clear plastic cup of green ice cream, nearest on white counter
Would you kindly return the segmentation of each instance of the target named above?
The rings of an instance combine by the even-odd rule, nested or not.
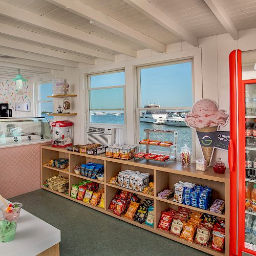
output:
[[[0,218],[0,243],[10,242],[14,239],[17,222]]]

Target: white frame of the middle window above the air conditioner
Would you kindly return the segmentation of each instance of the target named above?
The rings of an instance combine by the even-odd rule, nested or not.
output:
[[[106,86],[106,87],[91,88],[91,84],[90,84],[90,81],[91,81],[90,78],[92,76],[103,75],[103,74],[114,74],[114,73],[120,73],[120,72],[124,72],[124,75],[125,75],[125,70],[124,69],[119,69],[119,70],[114,70],[114,71],[102,71],[102,72],[97,72],[97,73],[85,74],[85,76],[86,76],[86,79],[85,79],[85,81],[86,81],[86,90],[85,90],[86,91],[86,124],[87,124],[87,126],[94,126],[94,125],[110,126],[110,125],[112,125],[114,127],[121,127],[121,128],[126,126],[125,80],[124,80],[124,84],[119,85],[119,86]],[[124,115],[123,123],[94,123],[94,122],[91,122],[90,121],[90,97],[89,97],[90,91],[106,90],[106,89],[114,89],[114,88],[122,88],[123,89],[123,115]],[[98,109],[98,110],[101,110],[101,109]],[[98,110],[95,110],[95,111],[98,111]],[[110,110],[114,110],[114,109],[110,109]]]

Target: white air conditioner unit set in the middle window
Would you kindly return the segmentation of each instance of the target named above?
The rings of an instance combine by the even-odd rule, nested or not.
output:
[[[115,141],[115,128],[88,126],[86,138],[87,144],[113,145]]]

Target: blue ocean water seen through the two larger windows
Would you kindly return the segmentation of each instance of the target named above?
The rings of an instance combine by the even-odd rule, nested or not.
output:
[[[114,116],[114,115],[92,115],[91,120],[94,123],[113,123],[113,124],[123,124],[124,115]],[[153,123],[145,123],[140,122],[140,140],[146,138],[146,134],[144,134],[144,129],[151,130],[162,130],[162,131],[177,131],[178,132],[178,153],[181,151],[181,147],[186,143],[190,148],[192,148],[192,131],[190,127],[187,126],[173,126],[173,125],[165,125],[165,124],[153,124]],[[173,141],[173,134],[164,134],[164,133],[151,133],[150,139],[160,140],[160,141]],[[143,145],[141,145],[143,147]],[[152,150],[159,151],[168,151],[168,148],[159,147],[159,146],[151,146]]]

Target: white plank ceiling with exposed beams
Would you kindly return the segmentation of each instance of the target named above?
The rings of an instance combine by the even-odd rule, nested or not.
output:
[[[129,3],[125,3],[125,1],[123,0],[79,0],[79,1],[84,4],[85,8],[86,8],[85,5],[89,5],[90,7],[96,9],[97,11],[100,11],[102,15],[105,15],[105,16],[108,15],[111,18],[118,20],[119,23],[125,24],[126,26],[129,26],[132,29],[137,30],[138,32],[141,33],[140,34],[142,35],[141,38],[143,38],[143,35],[147,36],[145,38],[150,38],[150,40],[151,38],[153,38],[155,42],[157,42],[157,44],[158,42],[160,42],[161,46],[182,41],[182,39],[178,37],[179,33],[176,33],[175,35],[172,32],[170,32],[175,30],[172,30],[172,29],[167,30],[166,28],[161,26],[162,24],[160,22],[157,22],[158,20],[156,19],[153,20],[152,17],[144,14],[141,10],[139,10],[138,8],[135,8],[131,4],[129,5]],[[143,2],[145,0],[140,0],[140,1]],[[215,1],[217,2],[217,0],[212,0],[212,2],[215,2]],[[126,1],[126,2],[129,2],[129,1]],[[168,17],[166,20],[168,20],[169,18],[172,19],[176,24],[178,24],[178,27],[185,29],[187,32],[193,35],[194,38],[195,37],[201,38],[201,37],[206,37],[211,35],[227,33],[227,27],[225,27],[225,25],[224,26],[222,25],[223,23],[221,23],[221,18],[218,17],[218,15],[216,15],[216,12],[214,13],[214,10],[212,10],[212,8],[210,9],[210,7],[208,7],[208,5],[205,3],[206,1],[204,0],[147,0],[147,2],[150,3],[152,6],[154,6],[154,8],[156,7],[157,9],[159,9],[164,16],[166,15]],[[143,44],[142,41],[133,40],[134,37],[133,38],[129,37],[128,39],[125,38],[125,36],[123,36],[122,34],[124,31],[121,31],[122,33],[117,33],[118,29],[119,31],[121,30],[120,28],[116,28],[116,30],[115,29],[113,30],[113,28],[110,28],[108,26],[102,27],[100,26],[100,23],[97,24],[97,22],[90,23],[89,18],[84,18],[84,16],[82,16],[81,13],[77,13],[74,10],[72,10],[72,0],[62,1],[62,3],[64,4],[66,3],[67,5],[69,5],[70,9],[68,8],[64,9],[64,7],[66,6],[63,6],[63,5],[62,5],[63,8],[61,8],[59,7],[61,6],[60,3],[57,3],[57,1],[54,2],[52,0],[48,0],[48,1],[46,0],[0,0],[0,8],[1,8],[1,3],[6,3],[6,4],[9,4],[10,7],[13,6],[25,11],[32,12],[38,15],[38,17],[42,16],[49,20],[54,20],[54,22],[76,29],[77,33],[79,32],[89,33],[91,35],[104,39],[104,42],[106,41],[108,43],[111,42],[112,45],[114,42],[115,44],[122,46],[122,48],[120,49],[124,49],[124,48],[125,50],[129,49],[129,53],[132,52],[131,51],[132,49],[133,52],[131,56],[133,55],[136,56],[136,51],[145,49],[145,42]],[[224,15],[228,15],[230,17],[231,26],[234,25],[238,31],[242,29],[256,27],[256,0],[218,0],[218,3],[223,6],[224,9],[222,7],[221,8],[224,10]],[[223,11],[221,13],[223,13]],[[27,19],[27,23],[25,23],[20,21],[18,18],[16,19],[14,14],[12,17],[11,16],[12,15],[9,15],[9,17],[5,16],[5,13],[2,13],[0,15],[0,23],[7,24],[24,31],[28,30],[34,33],[38,33],[40,35],[46,35],[48,37],[56,38],[58,40],[69,42],[70,44],[82,46],[84,48],[90,48],[96,51],[100,51],[100,52],[103,52],[105,55],[111,54],[108,56],[111,56],[111,58],[109,59],[112,59],[112,60],[114,58],[112,55],[117,55],[121,53],[120,51],[117,51],[117,49],[113,46],[109,48],[108,47],[104,48],[102,47],[102,44],[101,46],[99,46],[100,44],[97,45],[97,44],[88,42],[88,40],[86,39],[86,36],[84,40],[81,40],[83,38],[80,38],[80,39],[74,38],[69,36],[68,33],[60,34],[60,31],[56,31],[54,29],[53,29],[54,31],[50,31],[46,27],[42,28],[42,27],[38,27],[38,25],[35,26],[33,24],[33,20],[31,20],[31,22],[28,23],[30,20]],[[17,34],[15,36],[17,36]],[[52,55],[55,55],[57,57],[60,56],[62,57],[62,59],[63,59],[63,56],[67,56],[67,54],[65,55],[63,53],[70,54],[68,55],[69,58],[72,58],[72,56],[73,57],[79,56],[79,58],[74,57],[75,59],[74,63],[76,63],[74,67],[77,65],[79,66],[79,62],[77,62],[76,59],[81,60],[81,57],[88,58],[87,62],[84,61],[84,63],[94,63],[96,59],[96,57],[92,55],[80,53],[77,51],[72,51],[72,49],[70,50],[70,48],[63,49],[61,47],[56,47],[56,44],[55,46],[53,46],[54,44],[51,45],[51,42],[49,42],[49,44],[42,44],[40,42],[28,40],[22,37],[15,37],[15,36],[7,34],[6,31],[4,31],[4,33],[1,33],[0,31],[0,38],[4,38],[5,42],[6,42],[6,39],[8,39],[12,41],[25,43],[28,46],[33,45],[36,47],[40,47],[34,51],[38,51],[38,49],[44,48],[44,53],[42,53],[42,55],[44,55],[45,61],[47,61],[46,49],[51,49],[61,53],[62,55],[57,55],[57,54],[55,55],[53,54],[53,52],[51,52]],[[2,41],[4,41],[4,39],[2,39]],[[33,39],[33,38],[30,38],[30,39]],[[6,44],[5,46],[1,46],[1,43],[0,43],[0,47],[8,48]],[[62,47],[64,47],[63,44],[62,44]],[[24,50],[24,52],[28,52],[28,51]],[[37,54],[38,61],[40,61],[39,59],[41,55],[35,52],[34,54]],[[51,56],[52,62],[54,62],[53,58],[55,56]],[[56,58],[56,62],[59,62],[60,59],[61,58]],[[72,59],[70,59],[69,61],[72,61]],[[8,67],[4,67],[5,62],[2,58],[0,58],[0,62],[2,62],[2,64],[0,63],[1,79],[3,78],[4,74],[8,73],[8,71],[10,72],[10,74],[13,74],[13,70],[15,70],[15,67],[11,67],[10,62],[7,65]],[[26,61],[26,65],[27,63],[29,63],[29,61]],[[31,63],[35,63],[35,61]],[[71,63],[72,65],[72,62],[69,62],[69,63]],[[13,66],[15,66],[15,62],[13,63]],[[36,69],[35,72],[32,72],[33,66],[31,66],[30,71],[28,70],[29,67],[30,66],[27,65],[25,67],[27,71],[26,69],[22,69],[22,71],[26,71],[25,73],[29,76],[40,74],[41,67],[35,67],[34,68]],[[51,66],[51,67],[55,67],[55,66]],[[4,68],[5,70],[3,70]],[[47,71],[47,70],[41,70],[41,72],[42,71]]]

